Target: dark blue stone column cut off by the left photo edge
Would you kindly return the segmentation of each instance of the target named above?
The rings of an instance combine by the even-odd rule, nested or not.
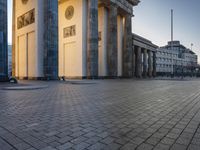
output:
[[[0,81],[8,79],[7,0],[0,0]]]

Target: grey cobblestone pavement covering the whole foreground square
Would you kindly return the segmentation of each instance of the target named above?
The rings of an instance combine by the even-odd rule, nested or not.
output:
[[[200,80],[39,83],[0,90],[0,150],[200,149]]]

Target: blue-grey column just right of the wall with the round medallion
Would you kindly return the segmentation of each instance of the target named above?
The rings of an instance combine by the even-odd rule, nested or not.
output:
[[[98,0],[88,0],[87,77],[98,77]]]

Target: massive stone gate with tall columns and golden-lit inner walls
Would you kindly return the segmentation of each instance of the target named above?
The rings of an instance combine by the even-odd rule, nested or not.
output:
[[[133,7],[138,3],[139,0],[13,0],[13,76],[141,77],[145,68],[138,69],[143,65],[137,63],[143,57],[136,50],[139,46],[133,46],[131,28]]]

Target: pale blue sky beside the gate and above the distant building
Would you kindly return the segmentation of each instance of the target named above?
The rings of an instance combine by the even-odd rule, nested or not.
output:
[[[170,11],[174,9],[174,40],[200,56],[200,0],[141,0],[134,8],[133,32],[158,46],[170,40]],[[12,0],[8,0],[8,42],[12,41]],[[200,59],[199,59],[200,60]]]

